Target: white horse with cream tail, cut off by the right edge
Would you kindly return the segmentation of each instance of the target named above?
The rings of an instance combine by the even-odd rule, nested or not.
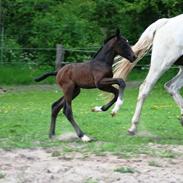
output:
[[[181,111],[183,125],[183,98],[179,90],[183,87],[183,14],[173,18],[159,19],[151,24],[141,35],[138,42],[132,47],[137,55],[137,60],[130,64],[126,59],[119,61],[115,67],[114,77],[126,79],[128,73],[136,63],[152,48],[149,73],[139,89],[139,95],[132,124],[128,132],[135,134],[140,119],[142,106],[149,92],[173,64],[180,65],[178,74],[165,84],[165,89],[170,93]],[[118,98],[113,112],[119,110],[122,99]]]

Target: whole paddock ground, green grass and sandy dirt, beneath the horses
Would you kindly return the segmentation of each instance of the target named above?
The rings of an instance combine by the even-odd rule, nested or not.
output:
[[[140,81],[127,83],[123,107],[92,113],[109,100],[98,90],[82,90],[73,102],[79,125],[95,141],[83,143],[62,114],[49,140],[50,105],[56,85],[3,86],[0,94],[0,182],[181,182],[183,128],[179,109],[161,81],[146,101],[136,136],[127,129]],[[82,107],[81,107],[82,105]]]

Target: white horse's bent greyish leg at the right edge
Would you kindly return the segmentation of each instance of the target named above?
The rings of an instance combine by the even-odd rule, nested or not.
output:
[[[165,83],[164,87],[167,90],[167,92],[172,95],[176,104],[180,108],[180,111],[181,111],[180,122],[183,126],[183,98],[179,93],[179,90],[183,87],[183,67],[182,66],[180,67],[178,74],[173,79]]]

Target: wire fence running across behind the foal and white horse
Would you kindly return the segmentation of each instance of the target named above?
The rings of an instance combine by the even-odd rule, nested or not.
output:
[[[39,66],[53,66],[55,67],[55,61],[57,57],[57,47],[52,48],[15,48],[7,47],[4,43],[4,33],[1,29],[0,35],[0,65],[39,65]],[[3,37],[3,38],[2,38]],[[63,64],[72,62],[84,62],[92,58],[99,47],[88,48],[64,48],[64,60]],[[150,56],[147,54],[135,68],[142,70],[149,69]],[[176,69],[178,66],[173,66],[171,69]]]

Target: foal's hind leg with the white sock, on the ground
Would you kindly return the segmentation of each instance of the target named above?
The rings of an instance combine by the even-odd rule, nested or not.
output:
[[[72,96],[74,95],[76,97],[79,94],[78,89],[77,88],[73,89],[73,88],[74,86],[70,86],[64,90],[65,103],[64,103],[63,113],[67,117],[67,119],[71,122],[74,130],[76,131],[77,136],[81,138],[82,141],[89,142],[91,141],[91,139],[82,132],[82,130],[79,128],[78,124],[76,123],[73,117],[72,107],[71,107]]]

